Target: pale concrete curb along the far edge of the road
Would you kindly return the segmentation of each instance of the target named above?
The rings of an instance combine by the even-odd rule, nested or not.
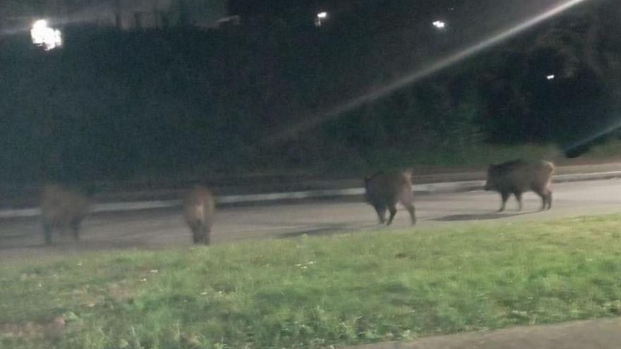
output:
[[[576,182],[580,180],[605,180],[621,178],[621,171],[578,173],[554,176],[554,183]],[[482,190],[485,180],[465,180],[457,182],[440,182],[412,185],[416,194],[438,194],[448,192],[469,192]],[[330,190],[307,190],[298,192],[272,192],[254,195],[225,195],[216,197],[218,205],[231,204],[257,204],[269,202],[282,202],[303,199],[327,199],[335,197],[353,197],[363,195],[364,188],[346,188]],[[140,209],[162,209],[181,206],[181,200],[150,200],[139,202],[109,202],[95,204],[92,212],[123,212],[137,211]],[[0,210],[0,219],[34,217],[41,214],[40,209],[4,209]]]

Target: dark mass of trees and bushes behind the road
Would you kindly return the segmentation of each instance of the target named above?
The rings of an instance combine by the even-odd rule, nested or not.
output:
[[[455,5],[457,29],[442,34],[429,19],[451,1],[345,2],[328,8],[320,28],[313,11],[326,4],[239,13],[241,25],[221,30],[66,26],[65,47],[49,52],[27,33],[0,37],[0,178],[355,172],[385,166],[388,153],[405,159],[482,142],[554,142],[575,156],[618,122],[621,7],[597,1],[339,118],[275,137],[498,24],[483,11],[498,9],[493,2]],[[244,8],[232,3],[231,13]]]

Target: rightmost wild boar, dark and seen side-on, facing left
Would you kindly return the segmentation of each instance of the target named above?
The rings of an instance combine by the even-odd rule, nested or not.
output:
[[[554,164],[543,160],[514,160],[498,165],[490,165],[488,168],[488,180],[485,190],[500,192],[502,205],[498,212],[505,210],[505,204],[510,195],[515,195],[519,204],[518,211],[522,209],[521,195],[532,190],[542,200],[541,210],[552,207],[552,190],[550,183],[554,173]]]

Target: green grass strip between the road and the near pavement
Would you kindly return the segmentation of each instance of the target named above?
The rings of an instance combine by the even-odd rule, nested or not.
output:
[[[0,347],[325,348],[606,317],[620,261],[617,214],[8,262]]]

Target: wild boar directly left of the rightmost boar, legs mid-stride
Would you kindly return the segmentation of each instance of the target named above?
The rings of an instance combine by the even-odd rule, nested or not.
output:
[[[410,171],[377,172],[364,179],[364,187],[366,202],[375,208],[380,224],[392,223],[394,215],[397,214],[397,202],[401,202],[409,212],[412,225],[416,224]],[[385,217],[386,209],[390,212],[388,221]]]

